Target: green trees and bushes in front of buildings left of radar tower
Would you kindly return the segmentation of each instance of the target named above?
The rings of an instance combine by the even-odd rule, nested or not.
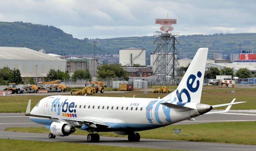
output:
[[[128,72],[120,64],[104,64],[97,67],[98,78],[110,78],[110,77],[128,77]],[[88,69],[76,70],[73,75],[70,76],[68,71],[61,71],[60,69],[50,69],[44,78],[45,81],[50,80],[69,80],[69,79],[91,79],[92,76]],[[16,84],[35,84],[35,80],[32,77],[26,77],[24,80],[21,78],[19,69],[10,69],[9,67],[4,67],[0,69],[0,85],[7,85],[8,83]]]

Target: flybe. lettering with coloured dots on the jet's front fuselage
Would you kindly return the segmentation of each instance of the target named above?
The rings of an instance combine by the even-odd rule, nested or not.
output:
[[[76,109],[75,107],[75,102],[68,102],[68,99],[66,99],[64,102],[60,101],[60,98],[55,98],[52,101],[52,106],[51,106],[51,112],[57,112],[58,116],[61,115],[63,117],[73,117],[76,118]]]

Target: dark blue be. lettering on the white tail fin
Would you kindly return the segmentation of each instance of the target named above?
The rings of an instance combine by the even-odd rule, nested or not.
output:
[[[201,78],[202,73],[200,71],[198,71],[197,76],[198,76],[198,78]],[[193,75],[193,74],[189,75],[188,79],[187,79],[188,90],[186,88],[183,88],[180,92],[179,92],[179,90],[176,90],[176,94],[177,94],[177,97],[178,97],[178,100],[179,100],[177,105],[184,106],[187,102],[191,101],[191,97],[190,97],[189,91],[193,92],[193,93],[196,92],[198,90],[198,88],[199,88],[199,85],[200,85],[199,80],[196,80],[196,87],[193,87],[193,84],[194,84],[195,80],[196,80],[196,76],[195,75]],[[182,93],[184,93],[186,95],[186,97],[188,99],[187,102],[184,102],[182,100],[182,97],[181,97]],[[182,102],[184,102],[184,103],[182,103]]]

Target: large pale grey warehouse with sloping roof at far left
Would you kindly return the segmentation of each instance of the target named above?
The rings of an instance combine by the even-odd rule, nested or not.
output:
[[[0,68],[19,69],[22,77],[41,81],[50,69],[66,71],[66,59],[53,57],[25,47],[0,47]]]

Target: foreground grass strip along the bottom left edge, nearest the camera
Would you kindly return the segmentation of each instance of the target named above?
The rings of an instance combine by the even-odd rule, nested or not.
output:
[[[70,142],[45,142],[15,139],[0,139],[0,147],[1,151],[177,151],[169,149],[117,147]]]

